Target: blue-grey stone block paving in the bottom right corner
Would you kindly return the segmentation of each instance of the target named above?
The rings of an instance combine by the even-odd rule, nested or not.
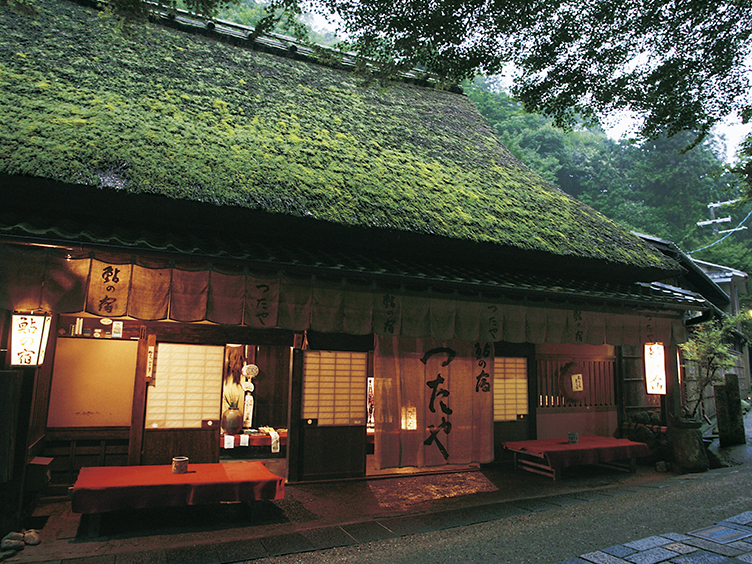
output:
[[[556,564],[752,563],[752,511],[686,535],[666,533],[609,546]]]

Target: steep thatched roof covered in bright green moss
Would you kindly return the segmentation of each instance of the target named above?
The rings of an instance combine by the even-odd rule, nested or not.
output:
[[[465,96],[32,5],[0,6],[0,173],[674,266],[519,163]]]

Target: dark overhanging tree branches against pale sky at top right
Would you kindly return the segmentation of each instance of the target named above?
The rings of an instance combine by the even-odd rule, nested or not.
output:
[[[514,63],[515,94],[557,125],[629,109],[648,137],[707,134],[749,107],[746,0],[317,0],[375,60],[450,81]]]

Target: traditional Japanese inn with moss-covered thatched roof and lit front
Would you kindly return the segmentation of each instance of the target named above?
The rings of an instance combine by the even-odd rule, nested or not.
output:
[[[51,331],[38,368],[4,376],[6,483],[39,455],[60,486],[216,461],[262,427],[289,481],[487,463],[508,440],[614,434],[648,343],[678,410],[686,312],[709,304],[467,97],[237,27],[34,6],[0,8],[2,347],[13,313]],[[248,430],[224,433],[256,369]]]

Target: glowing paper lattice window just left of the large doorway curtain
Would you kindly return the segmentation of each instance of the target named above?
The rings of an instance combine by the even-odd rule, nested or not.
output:
[[[303,419],[319,425],[365,425],[368,353],[306,351]]]

